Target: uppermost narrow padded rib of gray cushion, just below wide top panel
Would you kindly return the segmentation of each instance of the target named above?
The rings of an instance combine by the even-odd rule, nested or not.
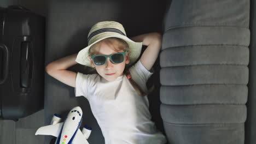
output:
[[[176,46],[196,45],[239,45],[248,46],[248,28],[236,27],[184,27],[167,29],[162,49]]]

